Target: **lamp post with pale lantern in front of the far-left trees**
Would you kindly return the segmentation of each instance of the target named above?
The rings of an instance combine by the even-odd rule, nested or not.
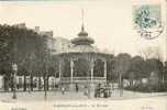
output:
[[[13,99],[16,99],[16,91],[15,91],[15,89],[16,89],[16,72],[18,72],[18,65],[16,64],[13,64],[12,65],[12,69],[13,69]]]

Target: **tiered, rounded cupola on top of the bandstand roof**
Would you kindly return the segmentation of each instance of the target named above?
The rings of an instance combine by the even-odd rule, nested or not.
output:
[[[85,28],[82,25],[81,31],[78,33],[78,37],[73,38],[71,43],[75,45],[91,45],[94,43],[94,41],[88,36],[88,33],[85,31]]]

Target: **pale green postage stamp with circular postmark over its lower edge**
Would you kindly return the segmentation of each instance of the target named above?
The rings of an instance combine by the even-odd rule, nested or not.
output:
[[[164,30],[159,4],[133,7],[133,24],[136,33],[146,40],[158,37]]]

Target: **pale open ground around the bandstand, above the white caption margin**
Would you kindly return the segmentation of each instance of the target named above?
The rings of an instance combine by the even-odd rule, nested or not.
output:
[[[91,92],[90,98],[84,95],[84,92],[70,92],[67,91],[63,95],[60,91],[47,91],[47,98],[44,97],[44,91],[26,91],[26,92],[16,92],[16,99],[12,99],[12,92],[0,92],[1,101],[55,101],[55,100],[118,100],[118,99],[137,99],[137,98],[147,98],[147,97],[158,97],[167,96],[167,92],[133,92],[133,91],[123,91],[123,96],[120,97],[119,90],[113,90],[110,98],[94,98],[93,92]]]

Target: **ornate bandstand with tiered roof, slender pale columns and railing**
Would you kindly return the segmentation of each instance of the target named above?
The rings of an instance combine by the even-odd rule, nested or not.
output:
[[[82,24],[78,36],[70,41],[67,52],[58,53],[59,85],[66,85],[74,89],[107,82],[107,64],[110,54],[100,52],[93,46],[93,38],[88,36]]]

